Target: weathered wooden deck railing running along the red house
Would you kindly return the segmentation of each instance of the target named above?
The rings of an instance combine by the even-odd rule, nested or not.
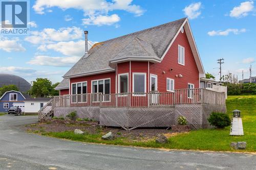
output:
[[[55,107],[174,107],[176,104],[225,105],[225,93],[203,88],[174,92],[86,93],[54,96]]]

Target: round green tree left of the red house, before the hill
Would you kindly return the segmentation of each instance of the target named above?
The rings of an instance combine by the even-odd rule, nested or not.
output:
[[[36,81],[33,81],[31,93],[36,98],[42,98],[42,97],[49,96],[52,90],[53,90],[52,82],[49,79],[37,78]]]

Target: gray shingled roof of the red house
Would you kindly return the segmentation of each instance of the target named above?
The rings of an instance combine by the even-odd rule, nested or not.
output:
[[[186,18],[95,44],[63,77],[113,69],[111,60],[145,57],[160,59]]]

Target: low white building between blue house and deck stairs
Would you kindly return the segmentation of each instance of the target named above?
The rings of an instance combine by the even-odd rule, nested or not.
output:
[[[38,113],[44,107],[50,98],[28,98],[25,100],[25,114]]]

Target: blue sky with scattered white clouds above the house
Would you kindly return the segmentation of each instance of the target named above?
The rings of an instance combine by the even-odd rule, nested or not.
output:
[[[33,81],[59,82],[83,55],[83,30],[91,42],[188,17],[205,72],[256,76],[255,1],[30,1],[30,35],[0,34],[0,72]]]

